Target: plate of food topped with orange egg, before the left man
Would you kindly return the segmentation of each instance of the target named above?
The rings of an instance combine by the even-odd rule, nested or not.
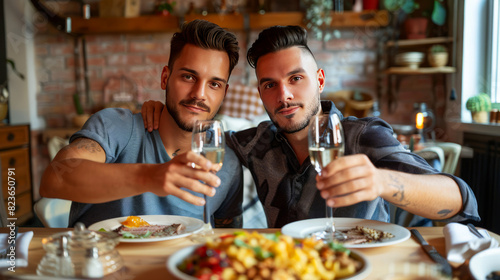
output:
[[[114,231],[120,242],[155,242],[199,232],[203,221],[174,215],[142,215],[113,218],[92,224],[95,231]]]

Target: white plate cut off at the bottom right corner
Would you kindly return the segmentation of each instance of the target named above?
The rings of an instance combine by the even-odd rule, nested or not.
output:
[[[475,254],[469,262],[472,277],[477,280],[486,279],[488,274],[500,271],[500,248],[488,249]]]

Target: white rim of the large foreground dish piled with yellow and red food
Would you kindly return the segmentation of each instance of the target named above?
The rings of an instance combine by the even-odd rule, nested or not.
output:
[[[197,278],[190,276],[182,271],[180,271],[177,266],[184,261],[188,256],[190,256],[196,248],[200,247],[202,245],[194,245],[190,247],[186,247],[184,249],[181,249],[174,254],[172,254],[168,259],[167,259],[167,269],[172,273],[175,277],[179,279],[184,279],[184,280],[197,280]],[[372,267],[368,259],[365,257],[365,255],[361,254],[360,252],[357,252],[355,250],[351,250],[351,257],[355,260],[360,261],[363,266],[361,269],[356,272],[356,274],[347,277],[347,278],[338,278],[342,280],[361,280],[365,279],[368,277],[370,274]]]

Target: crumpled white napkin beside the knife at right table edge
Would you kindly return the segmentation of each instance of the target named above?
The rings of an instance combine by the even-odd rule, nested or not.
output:
[[[448,261],[463,263],[476,253],[498,247],[498,242],[488,232],[480,229],[484,238],[479,238],[469,228],[459,223],[449,223],[443,229]]]

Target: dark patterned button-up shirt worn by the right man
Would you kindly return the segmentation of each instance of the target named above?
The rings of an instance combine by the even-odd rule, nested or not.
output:
[[[441,174],[455,180],[462,194],[462,211],[445,221],[479,220],[476,198],[460,178],[439,173],[424,159],[405,150],[393,137],[391,126],[380,118],[342,117],[333,102],[322,101],[323,112],[337,113],[344,128],[345,155],[365,154],[377,168],[413,174]],[[252,172],[269,227],[309,218],[325,217],[325,200],[316,188],[316,171],[310,159],[300,165],[292,147],[270,121],[256,128],[230,132],[228,146]],[[381,197],[334,209],[336,217],[389,222],[389,203]]]

